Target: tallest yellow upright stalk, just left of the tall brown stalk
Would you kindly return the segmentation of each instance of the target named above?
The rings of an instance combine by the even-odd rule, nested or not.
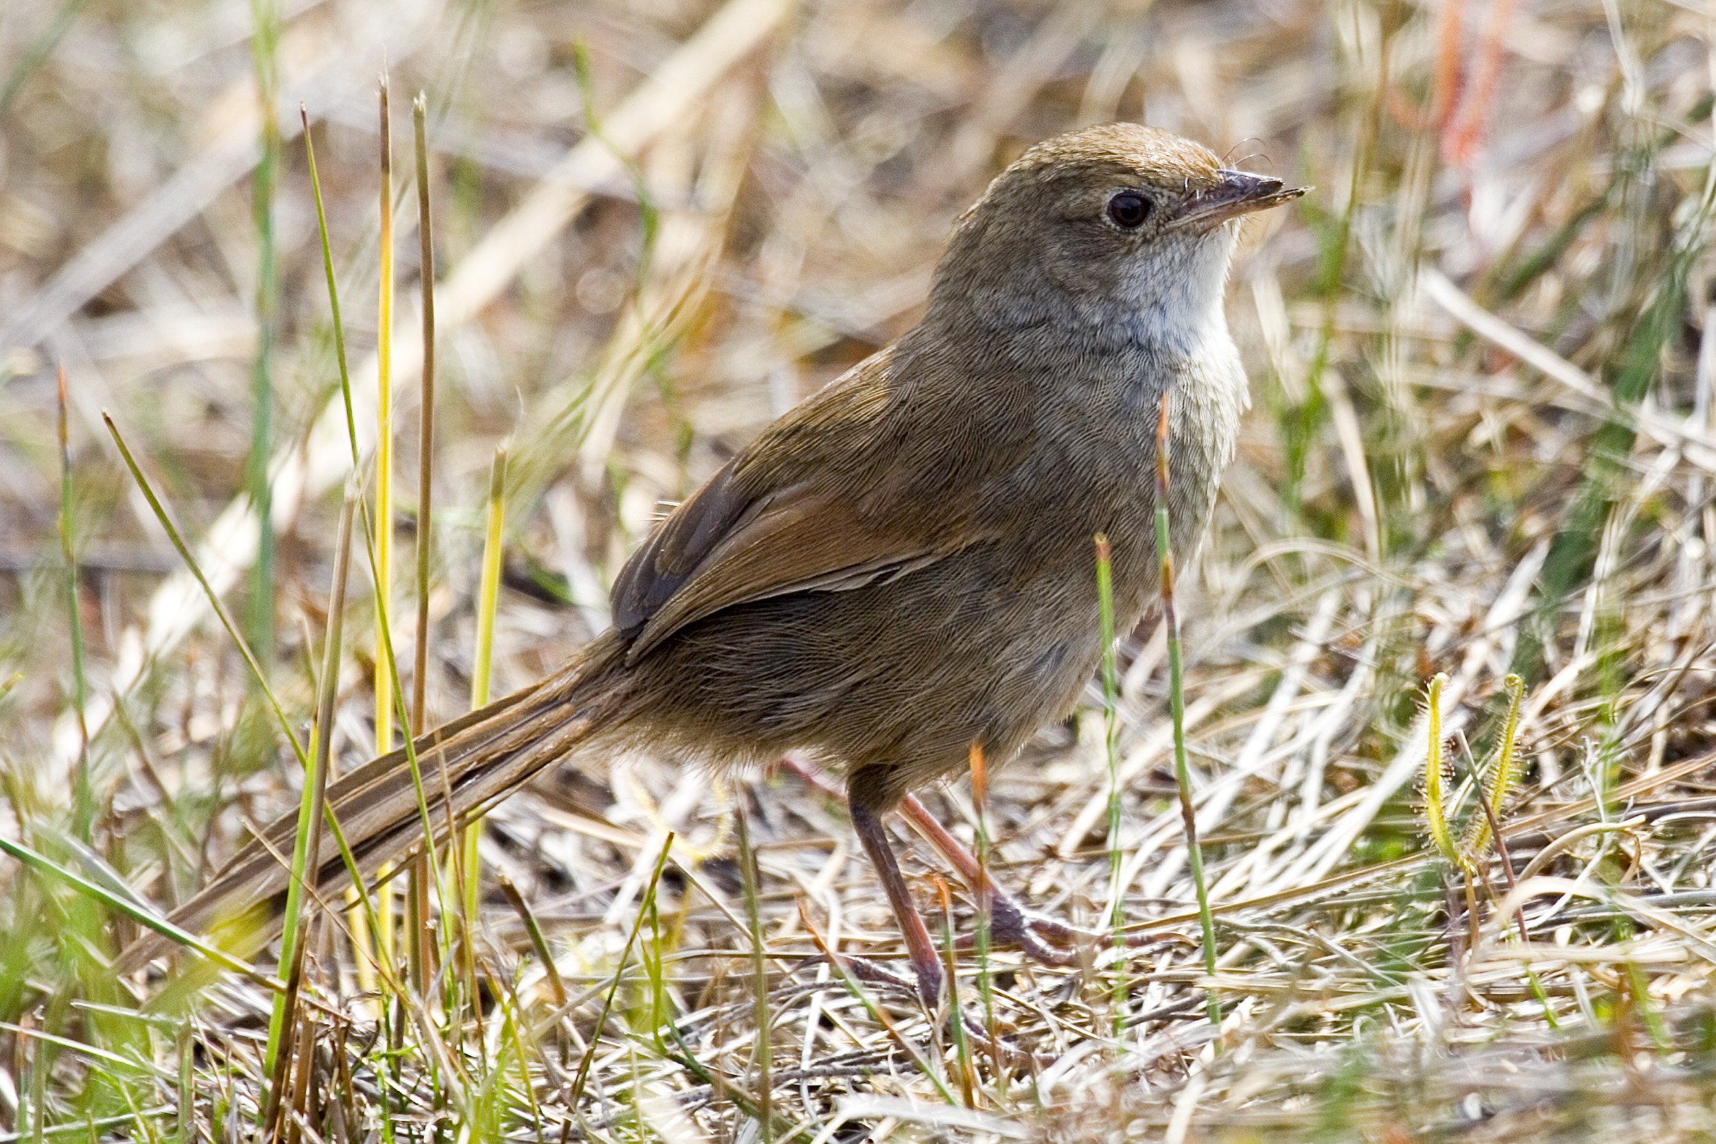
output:
[[[376,295],[376,515],[371,540],[371,571],[376,583],[376,755],[393,750],[393,672],[381,662],[381,645],[391,645],[388,633],[388,602],[393,599],[393,134],[388,115],[388,75],[378,79],[381,106],[381,249],[378,252]],[[393,899],[398,895],[386,880],[390,866],[379,871],[381,882],[381,955],[393,962],[395,948]],[[422,988],[419,967],[414,966],[414,983]]]

